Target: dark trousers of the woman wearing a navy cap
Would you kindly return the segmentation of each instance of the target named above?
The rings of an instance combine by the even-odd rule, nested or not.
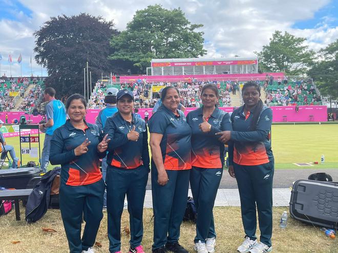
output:
[[[128,200],[130,221],[130,245],[141,245],[143,238],[143,203],[149,169],[140,166],[136,169],[121,169],[108,166],[105,183],[107,184],[107,212],[109,251],[121,248],[121,216],[125,195]]]

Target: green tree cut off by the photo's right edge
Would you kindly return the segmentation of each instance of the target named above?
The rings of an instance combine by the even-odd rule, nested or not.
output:
[[[338,98],[338,39],[318,53],[322,59],[313,64],[308,75],[314,79],[322,95]]]

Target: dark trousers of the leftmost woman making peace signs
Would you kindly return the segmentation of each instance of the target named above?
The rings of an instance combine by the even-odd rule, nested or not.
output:
[[[60,185],[60,211],[71,253],[94,245],[103,218],[104,188],[103,179],[85,186]],[[82,214],[86,225],[81,239]]]

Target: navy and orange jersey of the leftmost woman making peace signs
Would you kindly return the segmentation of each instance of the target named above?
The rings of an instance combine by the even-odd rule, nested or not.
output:
[[[105,156],[105,152],[97,151],[97,145],[100,142],[99,128],[89,123],[86,125],[87,127],[83,130],[77,129],[67,120],[53,133],[49,160],[53,165],[61,165],[61,183],[63,184],[89,185],[102,178],[98,162]],[[88,152],[76,156],[74,149],[86,138],[90,141]]]

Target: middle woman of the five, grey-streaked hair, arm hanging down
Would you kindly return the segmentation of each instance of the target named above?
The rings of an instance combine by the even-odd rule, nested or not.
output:
[[[179,243],[189,188],[191,128],[181,110],[179,90],[167,86],[162,105],[149,120],[154,208],[153,253],[188,253]]]

